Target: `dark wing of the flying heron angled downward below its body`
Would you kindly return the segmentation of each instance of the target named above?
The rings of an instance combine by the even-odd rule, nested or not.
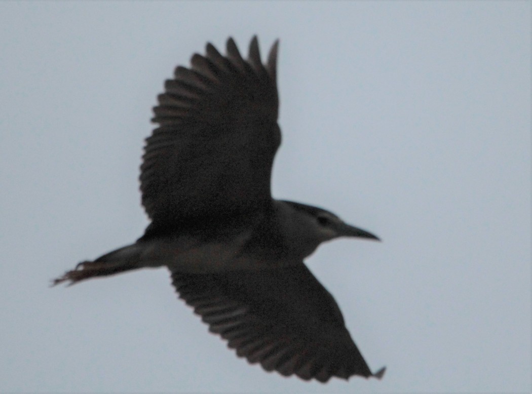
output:
[[[372,374],[330,293],[301,263],[272,270],[173,272],[180,298],[250,363],[304,380]]]

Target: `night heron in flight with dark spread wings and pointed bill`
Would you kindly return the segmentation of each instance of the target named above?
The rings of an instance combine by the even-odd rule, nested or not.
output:
[[[381,378],[351,339],[338,305],[303,263],[321,242],[378,239],[324,209],[270,193],[277,124],[278,41],[262,64],[235,41],[178,66],[154,107],[159,123],[140,167],[151,219],[134,244],[79,263],[70,284],[167,266],[180,298],[250,363],[304,380]]]

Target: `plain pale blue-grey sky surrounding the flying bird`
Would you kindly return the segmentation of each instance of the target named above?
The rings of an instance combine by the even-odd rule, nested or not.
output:
[[[255,33],[274,195],[383,239],[307,259],[381,381],[248,365],[164,269],[48,288],[142,234],[174,66]],[[0,70],[0,391],[530,391],[530,2],[2,2]]]

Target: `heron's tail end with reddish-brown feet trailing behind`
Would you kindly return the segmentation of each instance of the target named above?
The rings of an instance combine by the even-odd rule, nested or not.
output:
[[[85,279],[118,274],[120,272],[142,268],[139,264],[143,247],[138,244],[124,246],[98,257],[95,261],[84,261],[76,265],[72,271],[52,281],[52,286],[62,282],[70,282],[68,286]]]

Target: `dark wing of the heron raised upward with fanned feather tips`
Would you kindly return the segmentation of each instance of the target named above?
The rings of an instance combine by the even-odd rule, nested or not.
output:
[[[178,66],[154,107],[160,126],[146,139],[142,203],[154,223],[235,215],[271,203],[280,144],[278,41],[262,64],[256,37],[244,60],[235,42],[222,56],[211,44]]]

